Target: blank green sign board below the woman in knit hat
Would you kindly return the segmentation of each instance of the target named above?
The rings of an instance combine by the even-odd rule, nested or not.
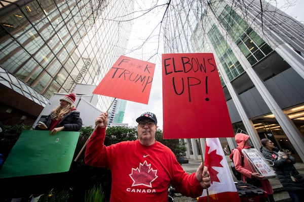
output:
[[[23,130],[0,169],[0,178],[67,172],[80,132]]]

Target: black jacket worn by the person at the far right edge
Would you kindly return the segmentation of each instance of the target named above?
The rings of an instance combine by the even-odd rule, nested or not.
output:
[[[261,147],[260,151],[265,159],[273,162],[274,171],[276,171],[277,177],[286,191],[304,190],[304,178],[293,166],[295,164],[294,157],[289,156],[289,159],[281,158],[278,160],[278,158],[272,158],[273,153],[267,148]],[[278,156],[278,154],[276,155]],[[296,178],[297,181],[292,181],[291,176]]]

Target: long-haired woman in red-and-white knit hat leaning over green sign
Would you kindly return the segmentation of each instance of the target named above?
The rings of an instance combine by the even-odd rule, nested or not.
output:
[[[62,96],[60,105],[52,110],[51,114],[46,117],[43,124],[35,127],[37,130],[50,130],[51,134],[55,135],[57,132],[65,131],[79,131],[82,127],[82,119],[80,112],[74,106],[76,99],[75,93]]]

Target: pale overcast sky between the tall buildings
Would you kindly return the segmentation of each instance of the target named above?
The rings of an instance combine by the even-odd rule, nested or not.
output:
[[[275,1],[271,0],[270,2],[274,3]],[[304,12],[302,11],[304,8],[304,1],[278,0],[277,2],[279,9],[294,17],[298,21],[304,22]],[[144,4],[141,5],[141,8],[150,8],[150,5],[147,5],[147,2],[144,1]],[[150,14],[150,17],[148,19],[143,20],[142,18],[139,18],[139,20],[134,22],[133,32],[131,33],[128,49],[134,49],[134,47],[141,45],[143,40],[145,40],[150,35],[150,33],[153,31],[152,29],[154,29],[161,21],[162,15],[158,15],[159,13],[163,15],[164,11],[155,11],[154,14]],[[144,47],[140,49],[140,51],[137,51],[136,53],[128,53],[125,56],[147,61],[149,59],[149,56],[151,56],[150,53],[155,53],[155,49],[158,48],[158,33],[159,27],[154,31],[151,39],[148,40],[148,43],[145,44]],[[162,54],[163,44],[160,44],[159,48],[159,53]],[[159,129],[163,129],[162,64],[160,57],[161,56],[159,55],[159,57],[155,57],[153,60],[149,60],[149,62],[156,64],[156,68],[148,105],[128,101],[123,123],[128,123],[129,126],[137,126],[135,119],[138,116],[144,112],[152,112],[156,114],[156,117],[158,119],[157,125],[159,126]]]

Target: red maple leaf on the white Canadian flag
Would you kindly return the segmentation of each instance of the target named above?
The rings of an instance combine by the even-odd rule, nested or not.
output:
[[[210,173],[211,184],[212,182],[220,182],[217,174],[218,172],[214,170],[212,167],[223,167],[220,162],[223,160],[221,155],[216,154],[216,149],[211,151],[209,154],[210,146],[206,145],[206,154],[205,154],[205,166],[207,166],[208,171]]]

